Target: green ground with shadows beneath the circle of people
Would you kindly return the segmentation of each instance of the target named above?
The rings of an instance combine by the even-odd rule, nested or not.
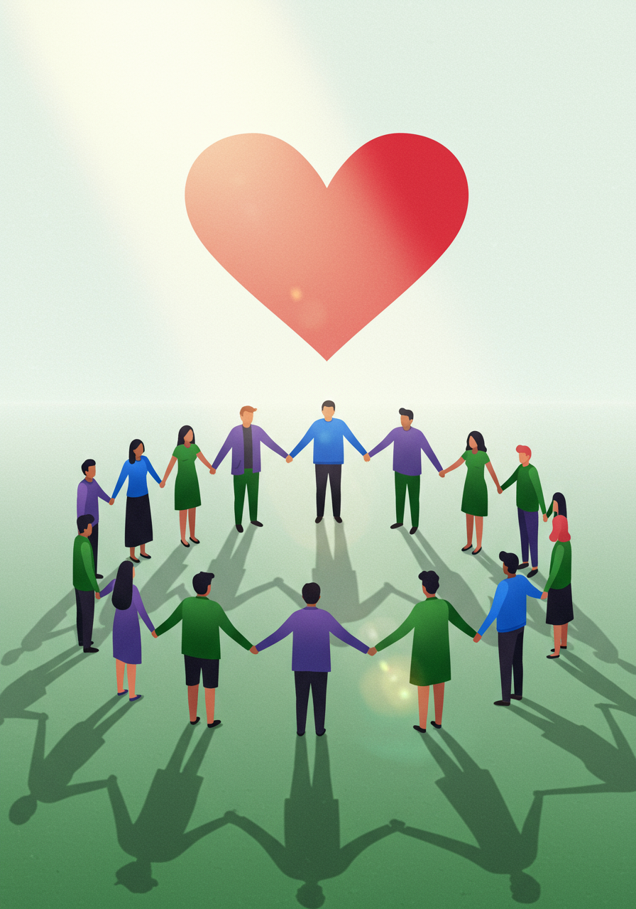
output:
[[[340,415],[369,447],[391,428],[386,415]],[[281,413],[263,426],[291,448],[313,418],[313,411]],[[312,881],[323,895],[305,887],[303,905],[632,904],[634,503],[633,489],[621,493],[631,418],[552,405],[512,414],[431,410],[416,421],[444,466],[479,425],[500,482],[514,469],[514,445],[532,445],[546,496],[558,489],[568,499],[571,644],[559,661],[545,659],[551,629],[542,604],[529,601],[524,700],[503,710],[492,706],[500,696],[494,628],[479,645],[452,629],[443,729],[425,736],[412,730],[410,639],[373,659],[333,646],[321,740],[294,731],[290,640],[258,656],[222,641],[223,724],[214,733],[187,723],[177,631],[155,641],[142,626],[144,699],[130,706],[114,696],[109,599],[95,613],[100,653],[85,657],[75,646],[79,465],[94,457],[110,492],[138,435],[163,474],[184,419],[212,459],[229,428],[213,408],[184,415],[173,405],[142,414],[100,407],[88,416],[63,406],[5,409],[5,427],[14,427],[5,445],[8,438],[14,454],[3,475],[4,904],[293,907]],[[490,485],[483,555],[462,554],[462,474],[442,481],[427,465],[420,531],[391,532],[390,455],[363,464],[353,449],[345,454],[342,526],[331,517],[313,523],[309,450],[290,465],[266,453],[264,527],[239,536],[229,470],[225,463],[214,477],[199,472],[202,543],[188,551],[179,544],[174,479],[164,491],[151,486],[153,558],[139,565],[135,583],[156,624],[208,567],[215,598],[253,641],[277,627],[298,605],[303,583],[315,579],[321,605],[373,644],[420,598],[417,574],[429,567],[441,576],[440,594],[478,624],[500,580],[499,550],[519,548],[513,492],[498,497]],[[104,505],[100,528],[105,584],[125,555],[123,496]],[[542,575],[547,537],[542,524]],[[98,722],[104,744],[95,750]],[[38,734],[50,757],[32,773],[58,800],[14,824],[10,810],[29,792]],[[112,774],[118,789],[110,798],[102,783]],[[65,788],[91,782],[100,785],[79,794]]]

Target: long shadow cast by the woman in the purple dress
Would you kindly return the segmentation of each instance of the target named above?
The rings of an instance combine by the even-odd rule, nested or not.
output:
[[[104,744],[104,735],[118,723],[133,706],[128,702],[103,719],[115,704],[121,703],[115,694],[105,704],[98,707],[88,719],[76,723],[65,733],[51,751],[45,756],[46,714],[40,714],[35,733],[35,744],[28,776],[29,794],[22,795],[11,806],[9,820],[13,824],[26,824],[35,814],[39,802],[61,802],[72,795],[94,792],[104,789],[106,780],[95,780],[92,783],[75,783],[71,781],[77,771],[84,766]],[[101,721],[101,722],[100,722]]]

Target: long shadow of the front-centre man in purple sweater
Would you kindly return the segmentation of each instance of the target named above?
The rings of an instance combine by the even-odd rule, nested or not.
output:
[[[225,817],[261,844],[283,874],[304,882],[296,899],[307,907],[323,905],[320,881],[343,874],[368,846],[397,832],[397,827],[384,824],[341,846],[340,813],[338,800],[333,798],[329,749],[324,735],[316,738],[313,781],[309,775],[306,739],[296,739],[292,789],[284,804],[284,845],[248,817],[234,812],[228,812]]]

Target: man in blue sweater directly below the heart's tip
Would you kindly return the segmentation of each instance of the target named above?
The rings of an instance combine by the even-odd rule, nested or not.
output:
[[[369,454],[364,451],[349,426],[343,420],[337,420],[333,416],[335,414],[333,401],[324,401],[322,410],[323,419],[316,420],[309,427],[290,456],[294,458],[313,439],[313,464],[316,471],[316,524],[320,524],[324,516],[327,478],[329,478],[332,491],[333,518],[338,524],[342,524],[340,481],[344,462],[343,438],[347,439],[360,454],[366,455],[367,460]]]

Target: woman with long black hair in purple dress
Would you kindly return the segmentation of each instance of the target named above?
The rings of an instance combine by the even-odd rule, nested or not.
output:
[[[137,664],[142,662],[142,635],[139,631],[139,616],[144,619],[149,631],[156,637],[154,624],[150,621],[142,603],[141,595],[133,584],[134,565],[122,562],[117,569],[117,576],[106,584],[101,596],[113,593],[115,614],[113,619],[113,656],[117,675],[117,694],[122,697],[128,694],[124,688],[124,668],[128,667],[128,685],[130,701],[138,701],[141,694],[134,694],[134,682]]]

